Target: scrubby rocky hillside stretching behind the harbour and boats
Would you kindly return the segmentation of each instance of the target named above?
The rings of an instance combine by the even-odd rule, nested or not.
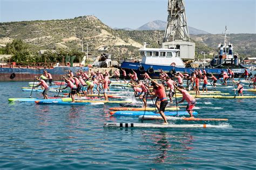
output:
[[[98,55],[105,49],[118,58],[138,55],[138,48],[143,42],[150,47],[159,47],[157,41],[163,40],[164,31],[126,31],[114,30],[102,23],[95,16],[83,16],[64,20],[35,20],[30,22],[0,23],[0,46],[13,39],[22,39],[35,49],[70,48],[81,51],[83,38],[84,51],[89,42],[89,52]],[[234,51],[246,55],[255,55],[256,34],[230,34]],[[224,40],[223,35],[194,35],[196,51],[214,52]],[[254,42],[254,43],[253,43]]]

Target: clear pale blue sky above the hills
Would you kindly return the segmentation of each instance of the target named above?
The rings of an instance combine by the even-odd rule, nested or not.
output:
[[[94,15],[112,28],[167,20],[168,0],[0,0],[0,23]],[[256,33],[256,0],[185,0],[187,23],[213,34]]]

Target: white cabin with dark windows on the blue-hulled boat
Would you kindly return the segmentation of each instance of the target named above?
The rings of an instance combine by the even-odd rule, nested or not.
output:
[[[142,55],[141,63],[147,65],[185,67],[184,62],[179,57],[179,49],[146,48],[146,42],[144,42],[143,48],[140,48],[139,51],[140,55]]]

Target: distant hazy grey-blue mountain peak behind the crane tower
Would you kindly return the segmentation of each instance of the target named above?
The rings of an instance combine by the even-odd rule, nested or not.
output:
[[[144,31],[144,30],[165,30],[166,24],[167,24],[167,22],[164,22],[162,20],[154,20],[152,22],[146,23],[146,24],[138,27],[138,29],[136,29],[136,30],[140,30],[140,31]],[[114,29],[119,30],[118,28],[114,28]],[[120,29],[120,30],[132,31],[132,29],[130,29],[130,28],[123,28],[123,29]],[[190,34],[192,34],[192,35],[210,34],[206,31],[198,30],[198,29],[195,29],[191,26],[188,26],[188,30],[189,30]]]

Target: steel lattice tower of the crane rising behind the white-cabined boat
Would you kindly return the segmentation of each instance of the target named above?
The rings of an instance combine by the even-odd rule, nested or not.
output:
[[[190,34],[188,32],[184,0],[169,0],[168,13],[164,42],[189,41]]]

